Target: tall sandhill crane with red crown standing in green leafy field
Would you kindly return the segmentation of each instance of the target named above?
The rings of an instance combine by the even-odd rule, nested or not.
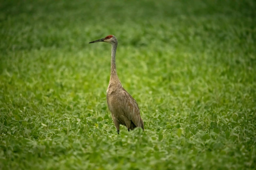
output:
[[[142,128],[144,131],[144,122],[140,115],[140,108],[136,100],[123,88],[116,72],[115,54],[117,49],[117,38],[114,35],[108,35],[89,43],[107,42],[112,46],[111,49],[111,73],[107,89],[107,104],[111,112],[111,117],[115,124],[117,134],[120,132],[120,124],[127,127],[128,131],[134,128]]]

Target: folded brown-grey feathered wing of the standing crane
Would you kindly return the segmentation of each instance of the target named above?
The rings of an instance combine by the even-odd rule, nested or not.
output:
[[[126,117],[131,120],[136,127],[144,127],[144,123],[141,119],[140,108],[136,102],[136,100],[123,88],[123,96],[124,96],[124,107],[123,111]]]

